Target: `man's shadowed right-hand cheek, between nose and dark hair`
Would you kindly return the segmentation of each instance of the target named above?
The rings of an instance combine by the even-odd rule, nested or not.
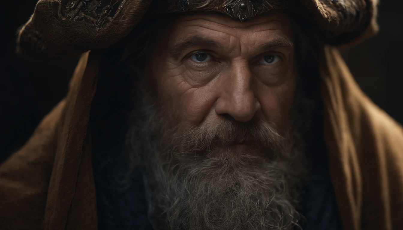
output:
[[[296,73],[290,71],[287,79],[276,86],[257,84],[256,97],[262,113],[268,122],[276,124],[279,131],[285,131],[291,124],[296,91]]]

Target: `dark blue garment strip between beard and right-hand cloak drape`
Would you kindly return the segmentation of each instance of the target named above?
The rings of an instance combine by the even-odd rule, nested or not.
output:
[[[319,102],[317,105],[320,105]],[[322,110],[313,114],[314,125],[306,140],[306,157],[309,164],[308,180],[301,191],[303,230],[339,230],[341,224],[334,189],[330,180],[328,156],[323,140]]]

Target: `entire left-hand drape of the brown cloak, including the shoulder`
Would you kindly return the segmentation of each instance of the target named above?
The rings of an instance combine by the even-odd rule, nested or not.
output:
[[[69,93],[0,166],[0,229],[97,229],[89,111],[96,55],[82,55]]]

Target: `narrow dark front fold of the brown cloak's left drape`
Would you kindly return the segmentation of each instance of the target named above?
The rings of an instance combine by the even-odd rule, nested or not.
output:
[[[91,139],[87,131],[98,71],[98,57],[84,54],[66,97],[69,103],[60,123],[45,207],[44,226],[48,229],[96,229]]]

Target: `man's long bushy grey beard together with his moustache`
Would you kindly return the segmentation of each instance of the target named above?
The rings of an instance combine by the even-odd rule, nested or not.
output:
[[[169,122],[168,111],[147,102],[140,107],[128,140],[132,156],[143,162],[140,167],[156,229],[288,230],[298,226],[296,208],[306,164],[296,129],[284,138],[270,124],[224,119],[180,133]],[[234,141],[266,148],[264,152],[262,148],[239,151],[231,148]]]

